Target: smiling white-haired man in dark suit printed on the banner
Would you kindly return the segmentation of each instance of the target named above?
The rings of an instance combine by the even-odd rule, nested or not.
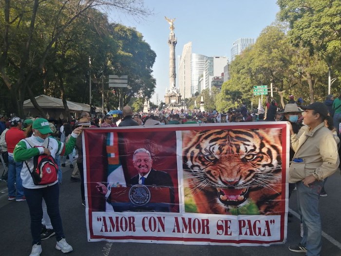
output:
[[[170,175],[152,169],[152,163],[152,156],[148,150],[144,148],[136,149],[133,153],[133,166],[137,174],[130,179],[130,184],[141,184],[147,187],[167,187],[170,189],[170,204],[174,204],[174,187]],[[97,182],[96,189],[107,198],[107,201],[111,201],[110,191],[104,184]]]

